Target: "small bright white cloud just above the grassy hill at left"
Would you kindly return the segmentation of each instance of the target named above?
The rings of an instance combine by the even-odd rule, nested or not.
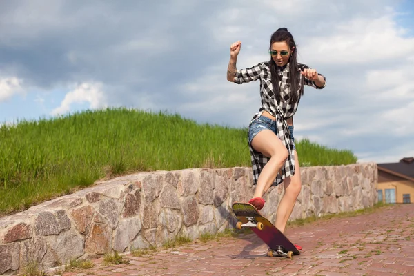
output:
[[[73,103],[90,103],[89,108],[98,109],[108,106],[101,83],[81,83],[77,88],[68,92],[61,106],[52,110],[51,115],[61,115],[70,111]]]

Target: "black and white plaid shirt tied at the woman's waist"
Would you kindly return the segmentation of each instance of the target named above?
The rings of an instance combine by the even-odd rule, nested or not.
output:
[[[309,67],[305,64],[299,64],[299,71],[301,70],[300,68],[304,69]],[[259,112],[257,112],[253,116],[253,119],[251,119],[250,124],[254,119],[260,117],[264,110],[269,112],[270,115],[273,115],[273,117],[276,117],[277,136],[282,141],[284,146],[286,146],[288,150],[288,158],[286,159],[284,166],[282,166],[282,170],[277,174],[276,179],[273,181],[273,185],[279,185],[286,177],[295,175],[295,155],[293,155],[293,139],[290,139],[286,119],[292,117],[295,114],[297,106],[299,104],[299,100],[297,101],[297,103],[288,103],[288,100],[290,99],[289,70],[290,66],[288,63],[284,69],[282,68],[281,71],[279,71],[279,79],[281,79],[279,81],[280,96],[281,99],[284,99],[284,101],[277,101],[276,98],[273,97],[274,92],[272,81],[270,78],[270,61],[259,63],[251,68],[238,69],[233,80],[235,83],[242,84],[260,79],[260,97],[262,98],[262,107],[259,108]],[[302,83],[305,83],[307,86],[312,86],[316,89],[322,89],[326,86],[325,83],[324,86],[318,87],[316,86],[315,82],[306,79],[302,74],[299,74],[299,77],[299,92],[302,92],[302,90],[304,89]],[[300,95],[302,95],[302,93],[299,94],[299,99]],[[260,152],[253,150],[251,145],[249,145],[249,148],[253,170],[253,184],[257,184],[257,179],[259,179],[260,172],[262,171],[262,168],[266,165],[266,163],[269,161],[269,158],[265,157]]]

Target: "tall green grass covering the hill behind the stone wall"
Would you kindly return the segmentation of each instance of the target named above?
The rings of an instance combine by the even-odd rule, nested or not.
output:
[[[302,166],[353,164],[348,150],[297,141]],[[247,128],[126,108],[0,127],[0,216],[129,172],[251,166]]]

